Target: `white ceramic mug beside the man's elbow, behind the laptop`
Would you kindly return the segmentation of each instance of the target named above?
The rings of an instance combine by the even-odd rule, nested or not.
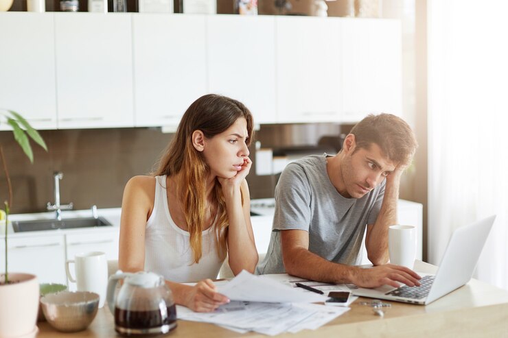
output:
[[[416,258],[416,228],[414,226],[390,226],[388,251],[390,263],[413,269]]]

